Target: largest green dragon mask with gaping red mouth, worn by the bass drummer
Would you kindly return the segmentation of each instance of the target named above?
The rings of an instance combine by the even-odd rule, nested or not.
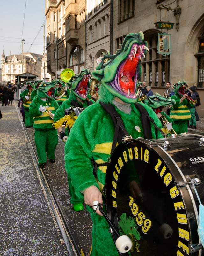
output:
[[[141,76],[141,58],[145,57],[147,42],[144,34],[128,34],[114,55],[106,55],[92,71],[94,78],[101,82],[115,97],[126,103],[136,102],[136,81]]]

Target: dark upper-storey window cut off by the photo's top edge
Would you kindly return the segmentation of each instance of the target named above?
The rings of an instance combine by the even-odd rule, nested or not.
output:
[[[135,0],[119,0],[119,22],[134,16]]]

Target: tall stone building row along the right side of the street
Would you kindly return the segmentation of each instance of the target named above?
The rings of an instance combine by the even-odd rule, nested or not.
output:
[[[75,73],[94,70],[103,53],[114,54],[128,33],[142,31],[150,52],[142,59],[140,81],[163,94],[167,81],[185,80],[204,99],[202,0],[46,0],[46,18],[47,68],[53,78],[67,67]],[[197,109],[204,113],[202,105]]]

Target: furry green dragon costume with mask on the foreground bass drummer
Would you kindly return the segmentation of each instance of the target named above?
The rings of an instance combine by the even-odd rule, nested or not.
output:
[[[120,114],[125,128],[133,138],[143,137],[140,112],[135,107],[136,81],[141,74],[140,59],[146,53],[147,42],[144,41],[142,32],[138,34],[128,34],[122,45],[122,49],[115,55],[104,55],[97,70],[93,71],[93,76],[101,82],[99,95],[100,101],[112,104]],[[134,54],[133,54],[134,52]],[[123,76],[126,81],[123,82]],[[115,97],[119,98],[129,107],[129,113],[120,110],[114,105]],[[127,104],[125,104],[127,103]],[[154,118],[159,128],[161,123],[155,112],[147,105],[142,104],[149,115]],[[140,129],[135,128],[140,127]],[[110,157],[113,143],[115,127],[110,115],[103,109],[97,101],[86,108],[75,121],[69,137],[65,143],[65,168],[71,177],[75,193],[81,200],[84,195],[81,191],[94,185],[102,191],[105,184],[106,167],[99,166],[97,178],[93,174],[93,159],[97,164],[107,162]],[[155,138],[155,129],[151,125],[152,137]],[[162,135],[159,133],[160,137]],[[105,207],[104,207],[105,208]],[[105,218],[94,213],[93,209],[87,205],[87,210],[91,214],[92,227],[92,256],[118,256],[118,251],[113,242],[109,225]]]

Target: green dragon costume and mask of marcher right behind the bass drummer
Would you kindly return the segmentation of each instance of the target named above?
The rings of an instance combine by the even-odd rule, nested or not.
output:
[[[58,108],[53,118],[53,121],[57,122],[62,117],[64,117],[64,110],[69,109],[70,107],[80,107],[87,108],[89,105],[95,103],[93,100],[87,99],[88,89],[90,88],[91,82],[91,72],[89,69],[83,69],[80,74],[73,76],[71,81],[68,83],[70,87],[69,99],[64,101],[62,105]],[[65,134],[69,135],[69,130],[65,129]],[[75,192],[74,188],[71,185],[70,178],[68,175],[69,182],[69,195],[71,197],[71,204],[83,203],[84,200],[79,199]]]

